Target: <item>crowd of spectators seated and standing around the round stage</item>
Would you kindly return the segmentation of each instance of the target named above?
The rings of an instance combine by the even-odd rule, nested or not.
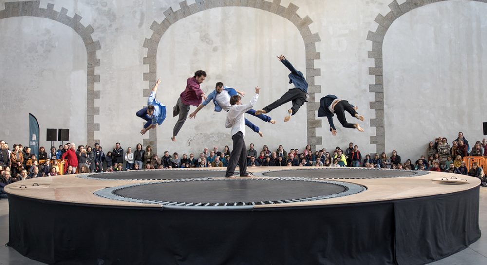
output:
[[[14,144],[12,149],[9,145],[0,141],[0,198],[5,198],[3,187],[15,181],[29,178],[56,176],[61,174],[88,173],[88,172],[114,172],[139,169],[164,169],[164,168],[190,168],[190,167],[226,167],[231,150],[225,146],[219,150],[217,146],[212,150],[205,148],[203,152],[195,155],[190,153],[179,155],[174,152],[172,155],[165,151],[158,156],[152,151],[150,145],[145,148],[137,144],[132,150],[122,148],[120,143],[115,144],[112,151],[105,153],[103,148],[95,143],[94,147],[89,145],[76,146],[75,143],[52,146],[50,150],[44,147],[39,148],[38,159],[31,154],[31,148]],[[482,186],[487,187],[486,177],[482,167],[473,163],[467,168],[462,160],[465,156],[487,156],[487,141],[476,141],[473,146],[458,133],[457,139],[448,143],[447,138],[438,137],[429,142],[425,154],[419,159],[401,159],[397,151],[393,150],[390,155],[386,153],[362,155],[357,145],[352,142],[348,147],[341,149],[336,147],[331,151],[325,148],[311,150],[307,145],[303,150],[298,148],[285,150],[282,145],[276,150],[270,150],[267,145],[261,151],[250,144],[247,150],[247,166],[303,166],[303,167],[366,167],[385,169],[406,169],[406,170],[428,170],[457,173],[478,177],[482,180]],[[64,161],[66,161],[64,163]],[[60,166],[60,163],[63,163]]]

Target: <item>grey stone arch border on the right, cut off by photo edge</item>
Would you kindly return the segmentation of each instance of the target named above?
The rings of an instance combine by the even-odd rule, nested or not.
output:
[[[370,119],[370,126],[375,127],[375,136],[370,137],[370,143],[375,144],[376,152],[385,152],[385,120],[384,120],[384,79],[382,69],[382,45],[387,30],[392,23],[402,15],[418,7],[431,3],[451,0],[406,0],[399,4],[397,0],[389,4],[389,11],[385,16],[377,15],[375,22],[378,25],[375,32],[369,31],[367,40],[372,42],[372,49],[368,51],[368,57],[374,59],[374,67],[369,67],[369,75],[375,77],[374,84],[369,85],[369,92],[375,93],[375,101],[370,102],[370,109],[375,110],[375,119]],[[487,0],[468,0],[487,3]]]

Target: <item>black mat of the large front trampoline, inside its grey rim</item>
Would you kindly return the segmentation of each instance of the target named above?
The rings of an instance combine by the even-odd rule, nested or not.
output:
[[[114,194],[163,202],[251,204],[318,197],[347,191],[348,188],[341,184],[277,179],[207,179],[131,186],[116,190]]]

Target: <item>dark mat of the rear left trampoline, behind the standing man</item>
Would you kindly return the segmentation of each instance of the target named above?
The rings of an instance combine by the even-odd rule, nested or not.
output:
[[[132,170],[90,174],[89,178],[117,180],[163,180],[179,178],[225,177],[225,170]],[[238,175],[238,172],[236,173]]]

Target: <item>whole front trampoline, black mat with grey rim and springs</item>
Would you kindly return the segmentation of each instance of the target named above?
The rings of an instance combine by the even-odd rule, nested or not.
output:
[[[310,178],[193,178],[106,188],[96,195],[167,208],[223,210],[336,198],[365,191],[354,183]]]

